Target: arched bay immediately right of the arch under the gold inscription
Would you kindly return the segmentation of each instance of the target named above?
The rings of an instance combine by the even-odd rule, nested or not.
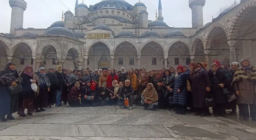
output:
[[[138,57],[135,46],[127,41],[120,43],[115,49],[114,69],[120,70],[125,67],[126,70],[138,68]]]

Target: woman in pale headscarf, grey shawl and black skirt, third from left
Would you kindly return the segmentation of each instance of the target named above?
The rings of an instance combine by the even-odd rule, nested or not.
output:
[[[39,79],[39,94],[37,96],[35,109],[36,112],[41,112],[45,111],[43,108],[48,107],[48,92],[50,91],[51,82],[45,74],[44,67],[39,68],[39,72],[36,73],[36,76]]]

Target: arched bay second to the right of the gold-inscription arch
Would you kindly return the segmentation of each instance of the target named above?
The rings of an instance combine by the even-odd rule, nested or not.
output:
[[[141,50],[141,68],[145,67],[147,70],[162,69],[164,67],[164,53],[162,46],[150,41],[146,43]]]

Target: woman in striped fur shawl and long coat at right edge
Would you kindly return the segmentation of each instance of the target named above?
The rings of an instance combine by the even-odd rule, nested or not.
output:
[[[239,112],[244,120],[249,120],[251,117],[256,121],[256,70],[246,58],[241,60],[240,67],[235,72],[232,82],[241,110]],[[250,106],[250,116],[248,106]]]

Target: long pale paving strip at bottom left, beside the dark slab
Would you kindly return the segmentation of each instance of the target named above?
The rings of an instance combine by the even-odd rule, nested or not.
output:
[[[67,137],[170,137],[170,134],[162,125],[17,124],[0,131],[0,135]]]

